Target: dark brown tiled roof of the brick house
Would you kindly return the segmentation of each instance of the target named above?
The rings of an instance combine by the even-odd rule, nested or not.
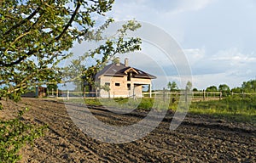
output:
[[[99,78],[100,76],[127,76],[127,74],[125,73],[125,70],[129,70],[129,69],[133,69],[136,70],[137,73],[134,73],[133,77],[136,78],[147,78],[147,79],[155,79],[156,76],[152,76],[146,72],[144,72],[143,70],[138,70],[136,68],[130,67],[130,66],[125,66],[124,64],[110,64],[105,66],[102,70],[100,70],[97,74],[96,74],[96,78]]]

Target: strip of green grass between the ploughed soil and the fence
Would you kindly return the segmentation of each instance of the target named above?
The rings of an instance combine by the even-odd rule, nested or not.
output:
[[[85,98],[69,99],[68,103],[83,103],[87,105],[102,105],[121,109],[151,110],[177,110],[177,106],[183,110],[185,104],[171,100],[154,98]],[[227,97],[214,101],[196,101],[189,106],[190,114],[210,115],[227,121],[250,122],[256,124],[256,97]]]

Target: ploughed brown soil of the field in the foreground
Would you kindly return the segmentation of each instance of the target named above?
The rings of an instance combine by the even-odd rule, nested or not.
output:
[[[0,111],[2,119],[28,107],[30,110],[22,121],[49,125],[44,137],[21,149],[20,162],[256,162],[255,124],[189,114],[171,131],[173,113],[169,111],[144,138],[130,143],[104,143],[82,132],[61,102],[23,98],[18,104],[1,103],[5,106]],[[96,106],[90,106],[90,112],[97,119],[117,126],[140,121],[147,115],[144,110],[118,115]]]

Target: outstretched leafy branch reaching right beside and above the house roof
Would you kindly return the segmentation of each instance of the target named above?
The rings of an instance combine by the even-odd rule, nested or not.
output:
[[[105,28],[108,24],[104,25]],[[90,87],[100,87],[99,83],[96,83],[96,74],[99,70],[102,70],[110,59],[115,60],[115,55],[118,53],[128,53],[136,50],[140,50],[141,39],[126,37],[127,31],[136,31],[141,27],[135,20],[128,21],[125,25],[116,31],[113,37],[104,38],[99,34],[91,34],[91,36],[97,36],[97,40],[105,40],[104,44],[100,45],[94,50],[84,53],[79,56],[78,59],[73,59],[71,64],[68,65],[64,72],[63,78],[67,82],[75,82],[76,86],[84,87],[84,83]],[[95,60],[95,65],[86,65],[86,59]]]

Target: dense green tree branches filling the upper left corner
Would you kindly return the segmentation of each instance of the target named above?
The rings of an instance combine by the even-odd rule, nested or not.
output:
[[[26,87],[61,81],[58,63],[73,42],[96,39],[95,16],[104,16],[113,0],[3,0],[0,7],[0,96]],[[107,23],[112,20],[107,20]],[[112,49],[109,49],[112,50]]]

